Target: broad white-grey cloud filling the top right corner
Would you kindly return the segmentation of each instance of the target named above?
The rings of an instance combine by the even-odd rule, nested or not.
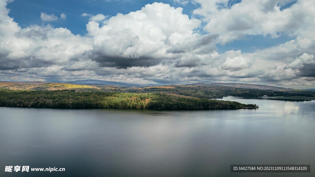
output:
[[[216,4],[227,3],[226,0],[196,0],[201,4],[193,11],[203,16],[208,22],[204,27],[210,33],[218,33],[222,44],[239,39],[244,35],[271,35],[279,37],[279,32],[294,35],[314,17],[314,2],[300,0],[291,7],[281,7],[290,3],[289,0],[242,0],[230,8],[218,9]],[[312,6],[312,7],[311,7]],[[306,9],[306,10],[305,10]]]

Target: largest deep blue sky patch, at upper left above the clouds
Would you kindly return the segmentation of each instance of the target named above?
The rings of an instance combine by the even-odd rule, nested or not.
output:
[[[72,31],[73,34],[84,35],[86,31],[86,23],[88,17],[82,17],[81,14],[104,14],[115,16],[117,13],[128,14],[133,11],[140,10],[146,4],[162,2],[168,3],[173,7],[183,7],[183,13],[192,16],[192,10],[200,7],[197,3],[188,3],[182,5],[174,1],[152,1],[152,0],[23,0],[9,3],[10,17],[18,22],[20,26],[41,25],[43,21],[40,19],[40,13],[67,15],[67,21],[51,23],[54,27],[65,27]]]

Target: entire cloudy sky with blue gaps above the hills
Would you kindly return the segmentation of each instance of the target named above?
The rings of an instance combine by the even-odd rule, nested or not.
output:
[[[315,88],[314,0],[0,0],[0,80]]]

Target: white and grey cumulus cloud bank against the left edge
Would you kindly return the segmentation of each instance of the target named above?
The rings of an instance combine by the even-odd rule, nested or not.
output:
[[[5,1],[0,2],[2,74],[23,75],[31,72],[34,77],[36,68],[62,65],[74,55],[92,48],[89,38],[76,36],[66,28],[53,28],[50,25],[21,28],[8,16]]]

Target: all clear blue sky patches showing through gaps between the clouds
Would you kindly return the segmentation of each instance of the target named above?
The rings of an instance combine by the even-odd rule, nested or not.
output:
[[[105,0],[55,0],[55,1],[42,1],[42,0],[24,0],[14,1],[9,3],[10,17],[14,18],[14,21],[19,23],[21,27],[30,25],[46,25],[51,24],[55,28],[63,27],[72,31],[73,34],[85,35],[87,33],[86,24],[89,21],[89,17],[83,17],[81,14],[104,14],[109,16],[115,16],[117,13],[128,14],[133,11],[140,10],[146,4],[162,2],[168,3],[173,7],[182,7],[183,14],[192,17],[192,11],[198,9],[200,4],[187,3],[185,5],[174,1],[152,1],[152,0],[118,0],[118,1],[105,1]],[[224,4],[217,3],[220,8],[231,8],[234,4],[241,2],[240,0],[229,0],[226,7],[222,7]],[[285,7],[292,5],[291,2]],[[40,13],[45,12],[47,14],[59,15],[65,13],[67,20],[58,22],[43,22],[40,18]],[[203,34],[208,33],[203,31],[203,26],[198,28]],[[241,50],[244,53],[254,52],[255,49],[264,49],[284,43],[292,40],[286,34],[282,34],[278,38],[271,38],[270,36],[262,35],[246,35],[239,40],[235,40],[227,44],[218,44],[218,53],[222,54],[229,50]]]

